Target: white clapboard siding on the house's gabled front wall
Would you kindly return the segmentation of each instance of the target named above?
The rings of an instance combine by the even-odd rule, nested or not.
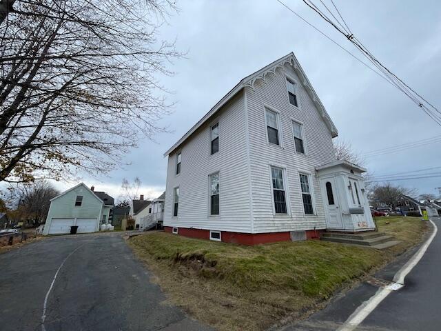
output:
[[[325,212],[315,167],[335,160],[331,131],[314,106],[307,90],[302,86],[296,72],[287,64],[284,69],[277,68],[274,74],[267,74],[265,81],[258,79],[253,88],[247,87],[245,90],[252,208],[256,233],[325,228]],[[299,108],[289,104],[286,88],[287,75],[297,83]],[[281,146],[267,143],[265,106],[269,106],[280,114]],[[303,124],[307,156],[295,151],[292,119]],[[275,216],[273,213],[270,165],[285,168],[290,215]],[[299,172],[311,174],[312,183],[310,184],[314,188],[315,216],[305,216],[303,213]]]

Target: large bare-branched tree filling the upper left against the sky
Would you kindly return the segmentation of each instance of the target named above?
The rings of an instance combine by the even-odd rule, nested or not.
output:
[[[0,24],[0,181],[108,172],[170,111],[172,0],[17,0]]]

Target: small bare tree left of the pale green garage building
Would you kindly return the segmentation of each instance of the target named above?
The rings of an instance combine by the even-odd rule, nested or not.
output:
[[[50,199],[57,197],[60,193],[45,180],[11,185],[10,191],[17,205],[16,216],[35,224],[44,223],[49,212]]]

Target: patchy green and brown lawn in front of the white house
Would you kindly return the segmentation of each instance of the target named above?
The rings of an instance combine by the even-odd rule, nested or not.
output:
[[[402,243],[384,251],[312,240],[243,246],[156,232],[130,245],[170,301],[196,319],[220,330],[264,330],[302,316],[416,245],[427,227],[411,217],[377,223]]]

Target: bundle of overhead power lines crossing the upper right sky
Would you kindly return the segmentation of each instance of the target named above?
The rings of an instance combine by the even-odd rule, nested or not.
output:
[[[391,85],[395,86],[403,94],[405,94],[407,97],[409,97],[409,99],[411,99],[414,103],[416,103],[416,105],[418,107],[420,107],[429,117],[431,117],[431,119],[433,119],[433,121],[435,121],[436,123],[438,123],[438,125],[441,126],[441,116],[440,116],[441,112],[437,108],[435,108],[435,106],[433,106],[432,103],[427,101],[427,99],[424,99],[424,97],[422,97],[421,94],[416,92],[416,90],[413,90],[413,88],[411,88],[407,83],[404,83],[404,81],[402,81],[402,79],[400,79],[398,76],[396,76],[396,74],[394,74],[393,72],[391,72],[391,70],[389,70],[386,66],[384,66],[376,57],[373,56],[373,54],[356,37],[353,36],[353,34],[351,32],[348,32],[345,28],[339,28],[337,25],[343,27],[342,23],[338,19],[336,19],[336,16],[332,12],[331,12],[331,16],[334,17],[334,19],[336,20],[337,23],[334,23],[334,21],[332,21],[329,17],[327,17],[327,15],[324,12],[322,12],[320,10],[320,8],[318,8],[318,6],[316,6],[312,2],[312,0],[303,0],[303,2],[306,3],[307,6],[309,6],[309,8],[314,10],[320,17],[322,17],[322,19],[327,21],[331,26],[333,26],[336,30],[338,30],[338,32],[343,34],[351,43],[353,43],[354,46],[356,46],[356,48],[358,48],[358,50],[360,50],[360,52],[362,52],[362,54],[374,66],[376,66],[376,68],[378,70],[380,70],[380,72],[382,72],[382,74],[384,74],[385,77],[387,77],[387,80],[389,81],[389,83],[391,83]],[[322,0],[320,0],[320,2],[330,12],[329,8],[327,8],[325,3],[323,3]],[[336,8],[339,16],[342,18],[334,1],[332,3],[334,5],[334,8]],[[347,24],[343,18],[342,18],[342,21],[344,21],[345,26],[347,26]],[[349,30],[348,26],[347,26],[347,28]],[[426,104],[424,104],[424,103],[426,103]],[[433,110],[429,109],[426,105],[433,108],[434,112],[433,112]]]

